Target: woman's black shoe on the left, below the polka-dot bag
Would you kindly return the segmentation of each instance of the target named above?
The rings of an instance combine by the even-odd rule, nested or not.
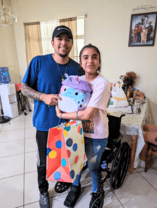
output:
[[[79,198],[81,194],[81,185],[79,184],[79,186],[71,186],[71,191],[68,193],[65,201],[64,201],[64,205],[66,207],[74,207],[74,205],[77,202],[77,199]]]

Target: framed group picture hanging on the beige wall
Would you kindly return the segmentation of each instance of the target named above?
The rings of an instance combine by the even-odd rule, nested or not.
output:
[[[129,46],[154,46],[157,12],[132,14]]]

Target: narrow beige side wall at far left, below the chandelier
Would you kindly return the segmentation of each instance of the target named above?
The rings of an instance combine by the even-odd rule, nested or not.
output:
[[[10,0],[4,1],[8,5]],[[12,83],[20,82],[14,26],[0,25],[0,67],[8,67]]]

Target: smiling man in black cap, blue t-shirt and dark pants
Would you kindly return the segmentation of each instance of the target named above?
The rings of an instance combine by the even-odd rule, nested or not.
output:
[[[37,56],[30,62],[22,80],[22,93],[34,99],[33,126],[36,128],[38,147],[37,172],[41,208],[49,208],[48,182],[46,180],[46,145],[48,130],[58,125],[55,105],[61,81],[68,75],[79,75],[79,64],[68,57],[73,46],[71,30],[58,26],[52,34],[54,54]]]

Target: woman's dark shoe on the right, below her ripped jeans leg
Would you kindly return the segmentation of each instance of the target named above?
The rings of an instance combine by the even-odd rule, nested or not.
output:
[[[91,193],[92,198],[89,208],[102,208],[104,203],[104,191],[98,193]]]

